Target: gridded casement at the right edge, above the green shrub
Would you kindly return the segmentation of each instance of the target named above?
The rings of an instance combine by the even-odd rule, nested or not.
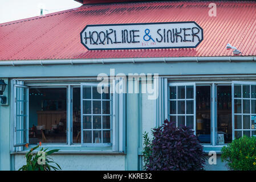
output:
[[[256,82],[232,82],[233,139],[256,135]]]

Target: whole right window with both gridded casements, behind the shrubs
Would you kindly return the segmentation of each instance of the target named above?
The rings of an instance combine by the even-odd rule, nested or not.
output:
[[[169,120],[212,146],[256,135],[255,82],[169,83]]]

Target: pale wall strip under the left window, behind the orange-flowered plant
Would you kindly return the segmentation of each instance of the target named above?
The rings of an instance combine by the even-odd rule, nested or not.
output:
[[[125,170],[125,155],[52,155],[52,159],[62,170]],[[25,155],[14,155],[15,170],[25,163]]]

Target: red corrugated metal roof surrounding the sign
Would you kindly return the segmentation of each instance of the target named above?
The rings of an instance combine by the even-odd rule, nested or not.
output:
[[[77,9],[0,24],[0,60],[102,59],[120,57],[233,56],[230,43],[243,56],[256,55],[256,3],[137,2],[83,5]],[[197,48],[88,51],[80,43],[87,24],[195,21],[204,29]]]

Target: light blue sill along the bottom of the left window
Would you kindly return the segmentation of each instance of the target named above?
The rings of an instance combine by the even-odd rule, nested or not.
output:
[[[26,154],[29,150],[35,145],[29,146],[29,148],[23,147],[22,151],[11,152],[11,154]],[[112,146],[108,147],[85,147],[81,145],[73,145],[73,146],[42,146],[43,148],[48,148],[49,150],[59,149],[58,152],[55,152],[52,155],[59,155],[59,154],[104,154],[104,155],[124,155],[124,151],[113,151]],[[36,153],[39,150],[36,149],[32,153]]]

